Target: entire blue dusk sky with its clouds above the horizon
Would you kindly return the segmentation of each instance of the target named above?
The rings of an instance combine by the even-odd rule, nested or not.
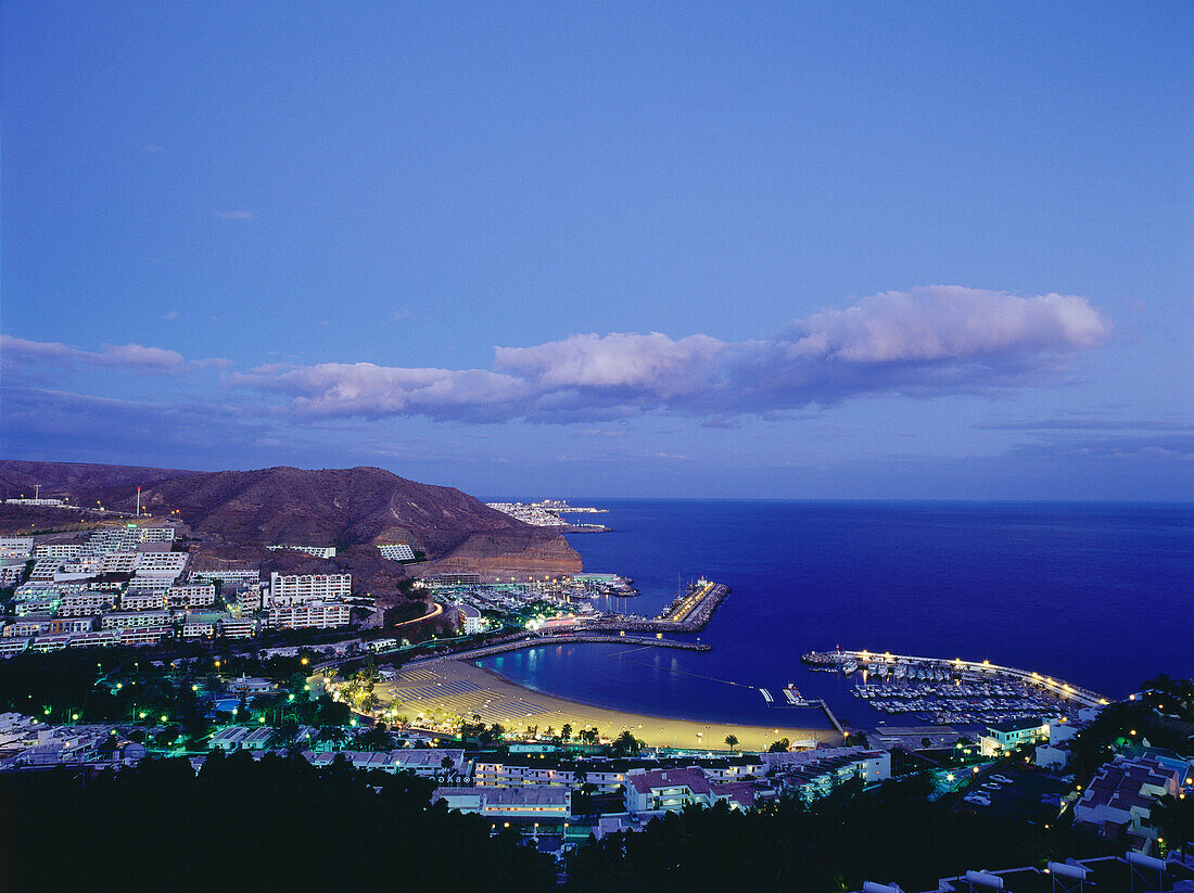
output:
[[[54,4],[0,452],[1194,498],[1188,4]]]

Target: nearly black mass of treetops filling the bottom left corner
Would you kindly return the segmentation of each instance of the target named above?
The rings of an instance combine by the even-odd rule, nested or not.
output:
[[[29,891],[547,891],[550,858],[433,782],[298,757],[149,759],[90,781],[0,776],[0,888]],[[387,882],[386,886],[389,886]]]

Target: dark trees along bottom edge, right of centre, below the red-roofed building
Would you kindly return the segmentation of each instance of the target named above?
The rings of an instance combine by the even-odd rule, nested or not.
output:
[[[858,889],[863,881],[933,888],[970,868],[1040,864],[1106,844],[1069,825],[1045,829],[952,813],[922,780],[878,794],[847,786],[804,806],[792,799],[747,813],[689,807],[639,833],[581,846],[568,889],[589,893]],[[843,886],[844,885],[844,886]]]

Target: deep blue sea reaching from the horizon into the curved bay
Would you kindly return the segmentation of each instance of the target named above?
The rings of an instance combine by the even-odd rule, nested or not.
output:
[[[860,727],[853,682],[811,672],[810,649],[989,659],[1124,696],[1158,672],[1194,676],[1194,506],[1041,503],[581,500],[615,528],[570,542],[586,571],[641,591],[656,615],[703,574],[730,598],[712,652],[535,648],[485,666],[577,701],[665,716],[796,725],[794,682]],[[693,636],[695,638],[695,636]],[[801,722],[808,712],[800,712]],[[787,715],[784,715],[787,714]]]

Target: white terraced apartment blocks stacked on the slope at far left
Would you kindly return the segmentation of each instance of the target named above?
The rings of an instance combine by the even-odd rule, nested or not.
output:
[[[248,639],[260,629],[346,627],[350,574],[189,569],[171,526],[127,524],[82,542],[0,538],[0,586],[14,616],[0,657],[67,647],[155,645],[164,639]]]

